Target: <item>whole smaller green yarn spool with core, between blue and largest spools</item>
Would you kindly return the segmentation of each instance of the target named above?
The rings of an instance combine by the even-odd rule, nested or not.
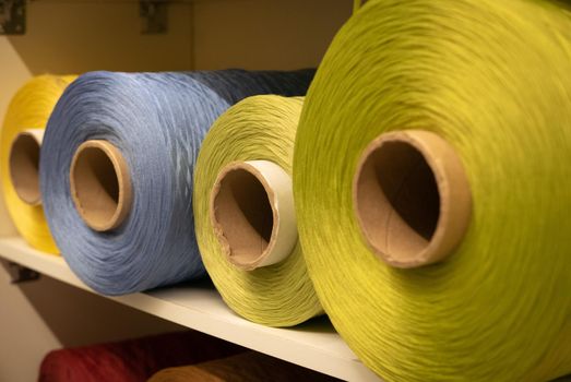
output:
[[[292,220],[292,186],[281,187],[289,200],[279,196],[279,187],[274,192],[267,186],[281,180],[259,178],[251,167],[277,165],[290,182],[301,106],[302,98],[278,96],[240,102],[209,131],[194,172],[197,239],[204,265],[234,311],[270,326],[296,325],[322,313]],[[272,203],[274,196],[282,199]],[[285,204],[292,216],[286,216]],[[284,225],[272,226],[287,219],[289,234]],[[255,251],[255,244],[265,250]],[[277,259],[265,262],[269,253]]]

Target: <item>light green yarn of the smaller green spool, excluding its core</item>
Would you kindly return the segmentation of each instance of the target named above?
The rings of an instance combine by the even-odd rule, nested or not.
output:
[[[225,231],[226,227],[217,228],[222,236],[227,236],[222,243],[211,216],[211,206],[217,212],[225,206],[211,203],[216,200],[216,192],[213,193],[213,190],[218,184],[221,175],[235,164],[266,160],[279,166],[286,174],[292,174],[294,141],[301,106],[302,98],[255,96],[231,107],[209,131],[202,143],[194,174],[197,239],[204,265],[222,297],[234,311],[248,320],[271,326],[296,325],[322,313],[307,275],[297,234],[292,253],[282,261],[267,266],[239,267],[229,261],[235,250],[237,251],[229,236],[231,232]],[[249,179],[251,181],[251,177]],[[249,208],[250,214],[255,215],[264,207],[267,208],[269,196],[263,192],[260,194],[260,190],[254,187],[253,191],[247,191],[250,200],[242,202],[241,206],[248,204],[245,208]],[[239,193],[240,190],[234,192]],[[238,224],[248,212],[235,210],[228,214],[231,215],[228,222]],[[247,231],[251,228],[247,222],[243,220],[242,224],[246,227],[239,227],[241,235],[238,235],[238,240],[251,234]],[[265,224],[263,229],[269,234],[272,230],[271,224]],[[233,247],[233,252],[228,258],[225,250],[229,247]]]

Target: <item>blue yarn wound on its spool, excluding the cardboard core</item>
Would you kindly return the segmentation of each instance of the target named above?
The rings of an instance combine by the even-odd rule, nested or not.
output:
[[[40,156],[47,220],[70,267],[105,295],[203,275],[194,237],[192,178],[205,133],[240,99],[255,94],[304,95],[312,75],[312,70],[226,70],[80,76],[50,117]],[[70,193],[73,155],[88,140],[108,141],[119,148],[130,171],[131,211],[108,231],[85,225]]]

